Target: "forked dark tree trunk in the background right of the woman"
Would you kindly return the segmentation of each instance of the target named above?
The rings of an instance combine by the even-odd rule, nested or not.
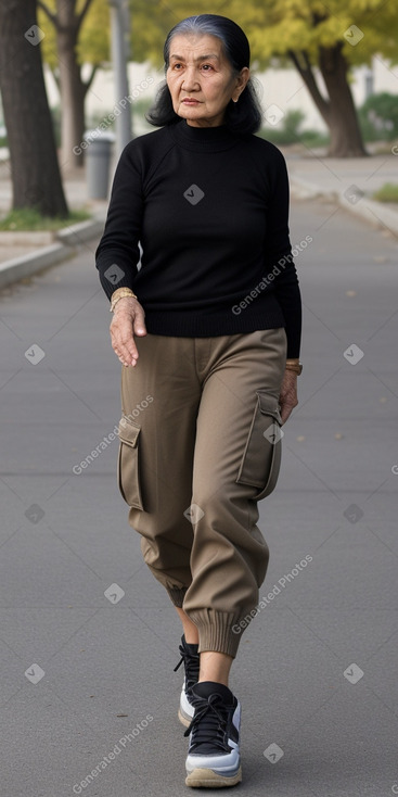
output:
[[[319,51],[319,68],[326,87],[328,99],[319,89],[308,54],[293,51],[288,54],[329,127],[331,143],[328,154],[331,157],[367,155],[347,80],[348,65],[342,53],[342,45],[320,48]]]

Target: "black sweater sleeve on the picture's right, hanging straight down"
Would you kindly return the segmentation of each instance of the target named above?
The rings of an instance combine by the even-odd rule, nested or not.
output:
[[[298,357],[301,339],[301,298],[288,232],[288,177],[277,150],[273,190],[267,214],[266,275],[274,275],[274,292],[285,320],[287,357]],[[272,279],[272,277],[271,277]]]

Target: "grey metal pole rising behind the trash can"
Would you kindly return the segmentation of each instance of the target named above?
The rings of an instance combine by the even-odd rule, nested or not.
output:
[[[131,103],[127,100],[130,90],[128,84],[128,8],[125,0],[110,0],[112,26],[112,62],[115,84],[115,106],[120,113],[116,115],[116,156],[131,141]],[[126,99],[125,99],[126,98]],[[123,101],[120,104],[120,101]]]

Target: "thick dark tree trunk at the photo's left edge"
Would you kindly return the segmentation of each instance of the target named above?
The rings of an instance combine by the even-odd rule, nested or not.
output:
[[[68,215],[41,63],[36,0],[0,2],[0,90],[13,207]]]

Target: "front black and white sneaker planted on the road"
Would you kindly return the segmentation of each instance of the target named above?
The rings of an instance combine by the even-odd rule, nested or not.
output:
[[[187,786],[217,788],[242,781],[239,731],[241,704],[223,684],[202,681],[192,687],[195,706],[190,734]]]

